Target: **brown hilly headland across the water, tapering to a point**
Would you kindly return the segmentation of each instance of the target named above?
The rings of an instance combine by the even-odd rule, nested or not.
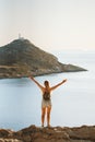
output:
[[[72,64],[60,63],[28,39],[15,39],[0,47],[0,78],[41,75],[47,73],[86,71]]]

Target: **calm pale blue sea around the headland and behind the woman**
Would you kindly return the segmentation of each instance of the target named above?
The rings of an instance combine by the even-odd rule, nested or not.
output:
[[[51,126],[94,126],[95,51],[55,50],[51,54],[62,63],[71,63],[87,70],[35,78],[41,85],[48,80],[50,86],[68,80],[51,93]],[[29,78],[0,80],[0,128],[17,131],[32,125],[40,127],[40,108],[41,92]]]

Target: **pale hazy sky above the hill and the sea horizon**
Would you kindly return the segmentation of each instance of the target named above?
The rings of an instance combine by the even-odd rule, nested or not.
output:
[[[0,46],[19,37],[43,49],[95,49],[95,0],[0,0]]]

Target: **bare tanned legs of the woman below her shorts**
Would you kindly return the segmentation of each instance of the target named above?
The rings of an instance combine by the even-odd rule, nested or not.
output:
[[[41,108],[41,127],[44,127],[46,110],[47,110],[47,127],[50,127],[50,111],[51,111],[50,106]]]

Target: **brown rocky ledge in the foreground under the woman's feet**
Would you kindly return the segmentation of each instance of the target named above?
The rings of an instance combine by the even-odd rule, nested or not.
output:
[[[0,129],[0,142],[95,142],[95,126],[75,128],[28,128],[12,131]]]

